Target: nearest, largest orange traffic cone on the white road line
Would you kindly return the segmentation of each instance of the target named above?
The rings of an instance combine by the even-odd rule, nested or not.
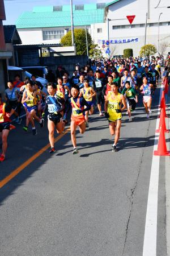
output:
[[[170,151],[167,151],[167,145],[165,142],[165,134],[163,131],[163,127],[160,127],[160,135],[159,135],[159,141],[158,141],[158,150],[154,151],[154,155],[169,155]]]

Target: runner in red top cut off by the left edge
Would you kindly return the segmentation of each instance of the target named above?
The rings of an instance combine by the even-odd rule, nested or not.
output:
[[[0,93],[0,134],[2,137],[2,154],[0,154],[0,162],[5,160],[7,138],[10,131],[10,117],[13,113],[14,109],[12,109],[10,105],[5,104],[5,102],[2,102],[2,94]]]

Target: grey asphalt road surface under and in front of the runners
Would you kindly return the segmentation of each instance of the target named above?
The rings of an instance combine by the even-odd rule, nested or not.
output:
[[[147,119],[140,100],[128,122],[124,113],[118,152],[105,117],[90,117],[90,129],[70,133],[0,190],[2,256],[141,256],[159,89]],[[17,126],[9,137],[3,180],[48,144],[46,126],[33,137]],[[165,256],[165,171],[160,161],[157,256]],[[148,256],[150,256],[148,251]]]

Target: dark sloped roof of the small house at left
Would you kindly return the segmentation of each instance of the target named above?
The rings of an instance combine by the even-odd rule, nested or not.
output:
[[[3,26],[5,43],[22,44],[18,31],[15,25],[4,25]]]

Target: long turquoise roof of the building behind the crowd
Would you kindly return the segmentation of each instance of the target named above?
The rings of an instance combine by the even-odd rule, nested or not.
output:
[[[83,10],[76,10],[73,5],[74,26],[86,26],[94,23],[104,22],[105,4],[81,5]],[[79,5],[80,6],[80,5]],[[37,27],[66,27],[71,26],[70,6],[63,5],[61,11],[55,11],[57,6],[38,6],[33,11],[25,11],[16,20],[17,28],[37,28]],[[59,7],[59,6],[58,6]]]

